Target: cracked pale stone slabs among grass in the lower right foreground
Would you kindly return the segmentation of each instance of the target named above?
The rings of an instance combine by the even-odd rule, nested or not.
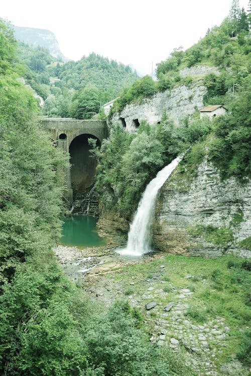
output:
[[[160,281],[166,284],[165,281]],[[114,286],[115,285],[115,286]],[[97,283],[92,286],[90,292],[95,294],[100,300],[109,304],[117,298],[124,298],[124,288],[117,282],[103,284]],[[131,282],[134,287],[134,282]],[[195,324],[188,316],[187,309],[193,306],[193,292],[187,288],[175,292],[172,298],[172,307],[165,311],[166,303],[169,302],[169,292],[158,288],[159,281],[147,280],[146,291],[142,295],[126,296],[131,304],[141,308],[146,313],[145,323],[151,333],[151,341],[159,345],[167,345],[174,351],[186,350],[188,362],[193,364],[199,375],[218,376],[215,361],[221,348],[227,345],[229,328],[224,324],[224,318],[216,316],[214,320],[207,321],[203,324]],[[147,310],[146,304],[155,302],[153,308]],[[161,302],[161,303],[160,303]],[[170,303],[170,302],[169,302]],[[168,308],[168,307],[167,307]],[[237,376],[239,373],[229,373]]]

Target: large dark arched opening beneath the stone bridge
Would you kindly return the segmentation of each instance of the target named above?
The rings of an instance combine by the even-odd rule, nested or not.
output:
[[[80,134],[69,146],[73,200],[83,197],[83,193],[92,184],[96,171],[97,161],[91,156],[88,138],[94,138],[97,146],[101,145],[92,134]]]

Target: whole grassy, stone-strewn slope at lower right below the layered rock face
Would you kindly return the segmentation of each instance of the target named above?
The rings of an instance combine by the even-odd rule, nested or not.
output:
[[[134,306],[140,306],[143,314],[146,314],[147,330],[153,334],[153,338],[159,340],[158,332],[164,325],[168,329],[165,343],[169,344],[172,337],[178,338],[180,351],[186,353],[188,358],[192,356],[197,359],[202,372],[205,372],[204,362],[209,362],[211,370],[218,375],[224,374],[221,373],[222,365],[236,360],[236,354],[241,351],[244,351],[244,356],[238,357],[247,365],[250,358],[248,360],[248,354],[245,353],[244,333],[251,318],[248,305],[250,272],[240,267],[228,267],[240,261],[229,256],[220,259],[166,256],[148,261],[128,265],[119,272],[100,277],[95,281],[95,292],[106,301],[123,296],[129,298]],[[149,292],[150,287],[153,289]],[[187,295],[187,300],[184,300],[186,308],[177,316],[181,320],[178,330],[182,335],[179,338],[179,333],[175,332],[177,327],[173,326],[173,317],[176,317],[173,313],[175,306],[182,300],[178,298],[182,289],[189,289],[192,294]],[[145,304],[151,300],[155,300],[158,305],[146,313]],[[163,308],[169,302],[174,302],[174,307],[164,316]],[[161,320],[166,321],[166,324],[159,324]],[[208,354],[204,353],[201,341],[197,338],[201,334],[200,326],[203,325],[210,332],[217,325],[218,334],[223,335],[221,339],[214,334],[211,338],[207,337]],[[197,339],[194,337],[189,342],[189,334],[197,336]],[[193,352],[193,346],[198,348],[198,353]],[[233,372],[237,373],[232,375],[239,374],[237,369]],[[243,375],[248,374],[247,368],[241,372]]]

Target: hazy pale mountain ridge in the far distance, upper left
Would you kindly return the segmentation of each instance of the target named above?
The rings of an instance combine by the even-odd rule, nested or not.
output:
[[[61,58],[64,62],[70,59],[66,58],[60,48],[54,33],[46,29],[35,29],[20,26],[13,26],[16,39],[28,44],[31,47],[44,47],[55,58]]]

